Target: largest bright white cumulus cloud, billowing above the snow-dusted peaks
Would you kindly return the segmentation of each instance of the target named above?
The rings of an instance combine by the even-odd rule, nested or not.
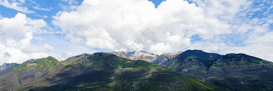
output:
[[[213,28],[211,31],[222,30],[229,33],[224,31],[228,27],[217,26],[225,25],[224,22],[206,18],[203,12],[203,9],[196,7],[195,4],[180,0],[162,2],[158,8],[154,8],[152,2],[145,0],[118,0],[107,3],[103,0],[86,0],[75,11],[58,12],[53,16],[55,20],[52,22],[66,34],[65,39],[72,42],[82,41],[86,45],[100,49],[120,49],[117,48],[120,43],[126,48],[126,45],[130,45],[128,43],[133,42],[147,27],[155,32],[154,36],[147,40],[147,46],[161,42],[176,47],[187,46],[190,44],[190,38],[185,37],[184,32],[197,34],[201,31],[202,34],[207,34],[211,29],[201,29],[204,26]],[[90,25],[103,30],[86,31]],[[171,31],[172,35],[170,32],[164,34],[166,30]],[[214,34],[217,33],[219,32]]]

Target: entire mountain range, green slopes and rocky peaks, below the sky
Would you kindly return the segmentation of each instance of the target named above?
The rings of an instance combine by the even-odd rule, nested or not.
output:
[[[272,76],[272,62],[242,53],[120,51],[83,53],[60,62],[47,57],[11,66],[0,72],[0,89],[272,90]]]

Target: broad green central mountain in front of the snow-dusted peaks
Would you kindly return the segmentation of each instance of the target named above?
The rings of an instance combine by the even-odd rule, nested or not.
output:
[[[142,60],[94,53],[16,90],[228,90]]]

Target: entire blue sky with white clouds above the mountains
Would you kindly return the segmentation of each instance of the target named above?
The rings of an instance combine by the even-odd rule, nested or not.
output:
[[[0,0],[0,64],[199,49],[273,62],[272,0]]]

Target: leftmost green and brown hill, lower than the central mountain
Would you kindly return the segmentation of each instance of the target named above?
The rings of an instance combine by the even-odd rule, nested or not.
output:
[[[0,72],[0,89],[14,90],[17,87],[25,86],[42,75],[62,66],[63,64],[57,59],[49,56],[24,62],[16,67],[8,67],[8,69]]]

